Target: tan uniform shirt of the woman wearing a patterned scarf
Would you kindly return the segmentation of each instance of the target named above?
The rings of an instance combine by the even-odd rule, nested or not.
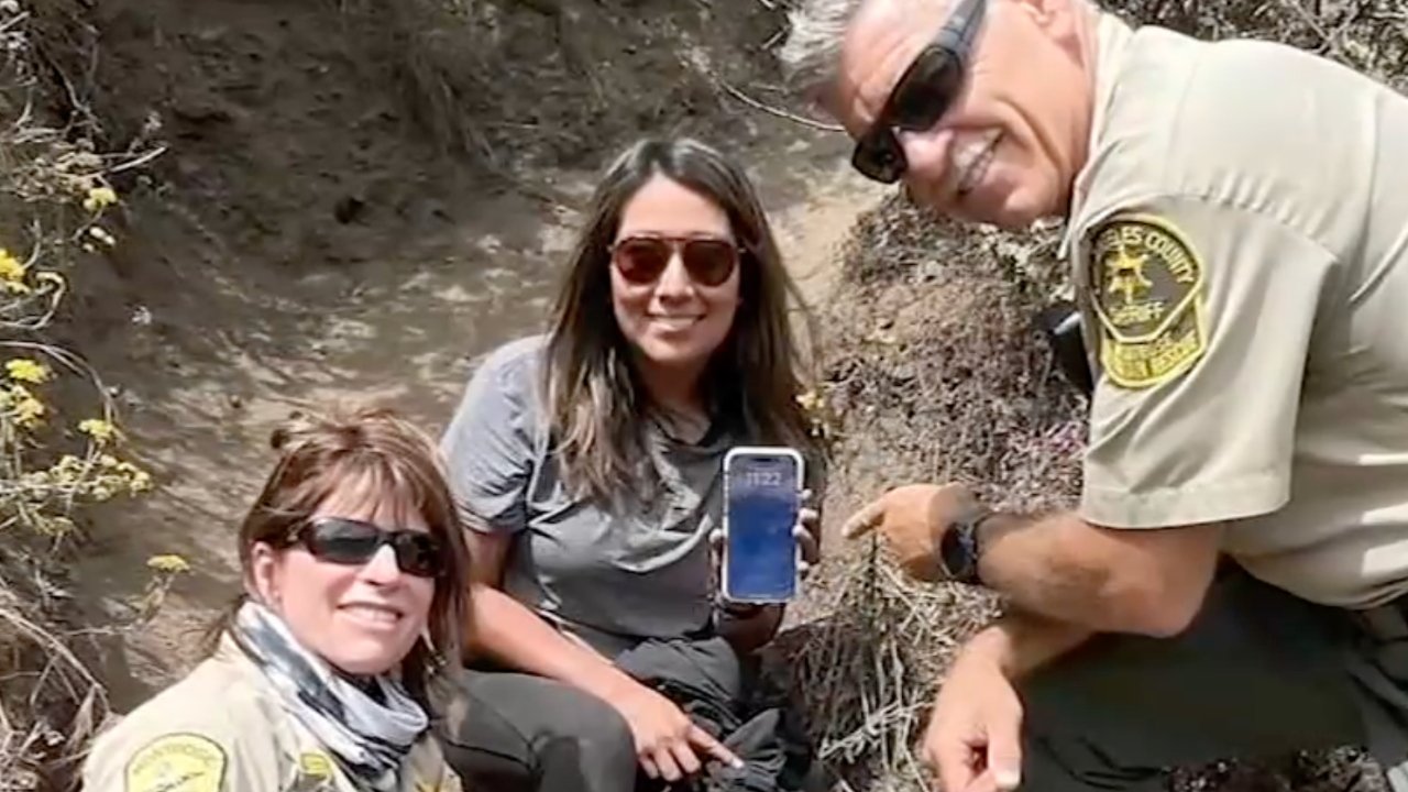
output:
[[[100,734],[84,792],[363,792],[225,637],[214,657]],[[406,762],[401,792],[460,792],[429,737]]]

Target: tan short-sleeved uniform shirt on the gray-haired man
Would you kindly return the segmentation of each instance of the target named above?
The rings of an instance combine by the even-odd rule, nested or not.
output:
[[[1232,520],[1307,599],[1408,588],[1408,99],[1287,47],[1098,31],[1067,245],[1093,365],[1083,516]]]

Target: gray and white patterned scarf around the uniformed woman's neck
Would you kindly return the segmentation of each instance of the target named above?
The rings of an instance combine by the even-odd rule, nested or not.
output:
[[[425,731],[425,710],[394,679],[377,676],[379,698],[304,650],[283,620],[248,600],[234,638],[279,692],[284,710],[322,744],[358,786],[393,792],[401,762]]]

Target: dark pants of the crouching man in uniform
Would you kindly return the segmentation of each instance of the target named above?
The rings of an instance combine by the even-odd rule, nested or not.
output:
[[[1362,745],[1408,792],[1408,623],[1367,616],[1226,568],[1184,633],[1098,636],[1021,685],[1022,789],[1157,789],[1173,767]]]

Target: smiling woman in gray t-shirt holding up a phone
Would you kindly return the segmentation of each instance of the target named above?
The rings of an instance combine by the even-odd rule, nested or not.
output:
[[[746,652],[780,623],[718,602],[711,533],[734,445],[797,448],[819,481],[788,296],[742,171],[643,141],[597,187],[551,331],[474,371],[444,438],[474,650],[446,753],[470,786],[627,792],[636,765],[676,781],[736,761],[614,661],[715,633]]]

